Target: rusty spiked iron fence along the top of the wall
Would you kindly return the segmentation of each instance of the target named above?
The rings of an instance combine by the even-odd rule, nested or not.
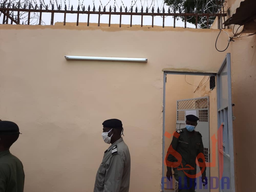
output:
[[[15,17],[14,17],[14,12],[15,12]],[[135,9],[131,7],[129,10],[127,7],[123,8],[120,6],[119,10],[117,10],[116,6],[112,9],[110,6],[109,9],[107,10],[106,7],[104,6],[103,10],[99,6],[99,9],[96,10],[95,6],[93,6],[92,10],[90,5],[88,6],[87,10],[85,6],[80,7],[78,5],[77,10],[74,10],[73,6],[71,7],[71,10],[67,10],[67,6],[65,5],[64,10],[61,9],[61,6],[59,5],[58,7],[54,7],[54,4],[51,4],[50,6],[46,5],[43,6],[40,4],[39,6],[36,4],[35,6],[31,5],[31,3],[27,6],[24,4],[24,6],[21,7],[20,3],[18,2],[16,5],[15,4],[6,4],[2,3],[0,6],[0,13],[2,13],[3,16],[3,24],[21,24],[20,23],[20,13],[21,12],[26,12],[28,13],[27,16],[27,21],[26,24],[30,25],[30,19],[31,19],[31,13],[39,13],[39,22],[38,24],[42,24],[42,13],[51,13],[51,25],[54,24],[54,14],[57,13],[63,13],[64,14],[64,22],[63,25],[66,25],[66,16],[67,14],[76,14],[77,15],[77,23],[76,25],[79,25],[79,15],[81,14],[87,14],[87,26],[89,26],[90,23],[90,15],[98,15],[98,26],[100,26],[100,17],[101,15],[108,15],[109,16],[109,26],[111,25],[111,15],[119,15],[119,27],[122,25],[122,16],[123,15],[129,15],[130,16],[130,26],[132,27],[132,18],[133,16],[141,16],[141,27],[143,26],[143,16],[152,16],[152,27],[154,27],[154,17],[159,16],[162,17],[163,19],[163,28],[164,28],[164,23],[165,23],[165,17],[166,16],[172,16],[173,17],[173,27],[175,28],[175,21],[177,16],[182,16],[184,18],[184,28],[187,27],[187,18],[188,17],[195,17],[196,24],[195,28],[198,28],[198,19],[200,17],[207,17],[207,28],[209,28],[209,17],[217,17],[218,18],[218,28],[222,28],[222,17],[227,16],[226,13],[209,13],[207,11],[206,13],[198,13],[197,11],[191,12],[190,13],[172,13],[170,9],[167,11],[163,8],[162,11],[160,11],[159,7],[155,9],[152,7],[151,10],[146,8],[146,10],[143,10],[143,7],[139,9],[137,6]],[[10,20],[10,21],[9,21]],[[24,22],[22,22],[24,24]]]

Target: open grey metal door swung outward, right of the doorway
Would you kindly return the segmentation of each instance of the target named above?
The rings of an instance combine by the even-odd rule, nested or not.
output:
[[[235,192],[230,53],[217,73],[220,192]]]

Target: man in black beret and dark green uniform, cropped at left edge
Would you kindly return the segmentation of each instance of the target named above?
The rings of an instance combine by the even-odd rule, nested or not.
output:
[[[0,121],[0,192],[23,192],[24,189],[23,165],[9,150],[19,134],[16,123]]]

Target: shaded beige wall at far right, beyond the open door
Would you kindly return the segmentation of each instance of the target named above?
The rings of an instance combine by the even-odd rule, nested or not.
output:
[[[256,36],[236,39],[231,45],[231,80],[236,191],[255,191]]]

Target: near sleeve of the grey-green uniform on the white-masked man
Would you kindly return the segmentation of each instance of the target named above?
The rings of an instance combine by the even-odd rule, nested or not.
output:
[[[111,155],[106,164],[103,192],[119,192],[124,171],[124,159],[119,154]]]

